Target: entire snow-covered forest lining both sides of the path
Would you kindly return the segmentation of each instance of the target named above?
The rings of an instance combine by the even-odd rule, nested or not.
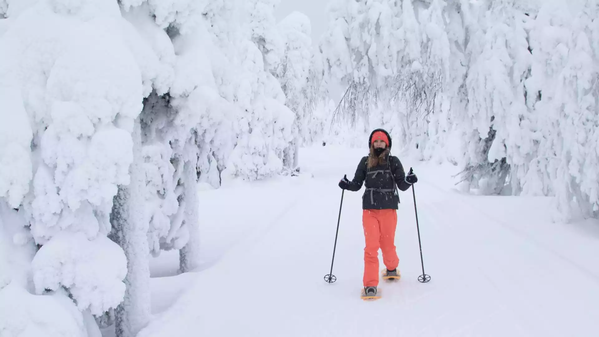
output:
[[[0,335],[135,336],[149,258],[198,265],[199,182],[378,127],[465,191],[599,216],[596,1],[332,0],[316,48],[277,3],[0,0]]]

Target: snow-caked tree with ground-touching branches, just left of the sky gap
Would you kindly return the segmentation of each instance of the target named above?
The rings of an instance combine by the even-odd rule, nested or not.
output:
[[[285,94],[273,75],[282,55],[274,3],[232,1],[238,5],[222,8],[211,19],[221,27],[216,37],[222,50],[221,61],[215,62],[216,81],[222,97],[235,109],[237,141],[222,173],[254,180],[283,169],[294,113],[285,106]]]

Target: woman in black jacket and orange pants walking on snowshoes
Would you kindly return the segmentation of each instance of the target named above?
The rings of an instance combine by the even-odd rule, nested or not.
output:
[[[386,270],[384,277],[399,277],[399,259],[395,251],[395,228],[400,197],[397,188],[406,191],[418,181],[415,174],[406,176],[400,160],[389,154],[391,136],[382,129],[374,130],[368,139],[370,155],[358,164],[353,180],[347,175],[339,186],[349,191],[366,187],[362,195],[362,225],[366,247],[364,248],[364,297],[377,296],[379,285],[379,248],[383,252]],[[397,186],[397,188],[396,188]]]

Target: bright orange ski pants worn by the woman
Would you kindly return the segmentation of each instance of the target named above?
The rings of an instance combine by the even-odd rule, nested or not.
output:
[[[364,225],[364,287],[379,285],[379,248],[383,263],[394,270],[400,263],[395,251],[395,228],[397,209],[365,209],[362,212]]]

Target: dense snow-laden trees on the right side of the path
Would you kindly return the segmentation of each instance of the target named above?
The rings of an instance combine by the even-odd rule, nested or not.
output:
[[[343,84],[337,123],[385,126],[422,160],[461,167],[465,191],[552,195],[562,220],[599,216],[597,1],[330,10],[314,59],[320,81]]]

